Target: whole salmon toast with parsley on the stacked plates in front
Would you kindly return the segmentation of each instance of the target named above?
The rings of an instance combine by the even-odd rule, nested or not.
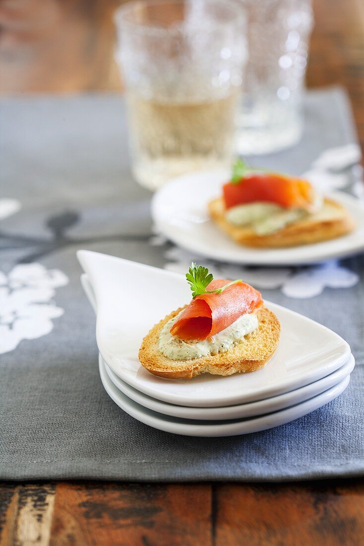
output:
[[[172,311],[142,341],[139,360],[154,375],[190,379],[259,370],[279,343],[281,326],[261,294],[241,279],[213,279],[191,264],[192,301]]]

